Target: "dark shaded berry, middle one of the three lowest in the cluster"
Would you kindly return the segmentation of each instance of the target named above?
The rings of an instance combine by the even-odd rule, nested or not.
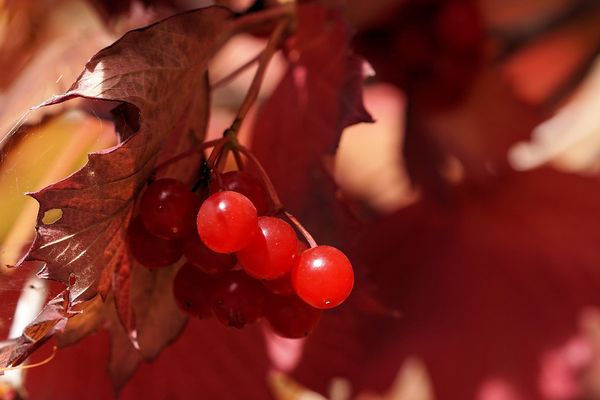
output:
[[[217,278],[211,304],[221,323],[241,329],[262,317],[265,291],[257,281],[243,271],[230,271]]]

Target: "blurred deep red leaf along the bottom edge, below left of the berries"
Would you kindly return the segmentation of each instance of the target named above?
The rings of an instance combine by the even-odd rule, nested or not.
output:
[[[215,320],[191,320],[173,346],[152,364],[139,368],[120,398],[270,398],[265,384],[269,364],[259,328],[240,332]],[[124,334],[121,339],[123,345],[130,346]],[[110,398],[105,370],[108,344],[108,335],[90,335],[75,346],[61,349],[52,363],[31,370],[26,382],[31,398],[70,399],[82,393],[89,398]],[[56,371],[69,379],[56,379]],[[229,378],[235,378],[235,384]]]

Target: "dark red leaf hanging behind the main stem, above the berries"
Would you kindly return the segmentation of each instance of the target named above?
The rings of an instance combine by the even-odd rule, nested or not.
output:
[[[372,120],[362,104],[362,62],[351,54],[342,19],[301,6],[294,39],[289,53],[297,60],[260,110],[252,147],[285,206],[316,219],[322,214],[315,216],[308,194],[327,179],[323,156],[335,152],[346,126]]]

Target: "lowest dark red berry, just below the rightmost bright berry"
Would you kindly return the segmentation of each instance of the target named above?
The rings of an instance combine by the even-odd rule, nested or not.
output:
[[[309,306],[297,296],[271,296],[265,317],[276,334],[297,339],[312,332],[321,318],[321,310]]]

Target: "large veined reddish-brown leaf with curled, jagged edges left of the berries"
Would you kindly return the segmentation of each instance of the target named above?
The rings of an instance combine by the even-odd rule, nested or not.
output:
[[[68,285],[65,314],[72,307],[81,312],[60,338],[62,345],[100,327],[111,331],[110,370],[117,388],[140,361],[152,360],[171,343],[185,322],[171,295],[175,269],[150,273],[134,268],[125,231],[156,162],[204,139],[209,110],[207,64],[240,28],[231,18],[228,10],[212,7],[131,31],[97,53],[67,93],[42,105],[81,97],[91,100],[84,104],[92,111],[106,115],[108,104],[119,133],[117,146],[91,154],[81,170],[32,194],[40,203],[37,234],[23,259],[44,262],[41,277]],[[186,181],[195,171],[189,161],[182,161],[166,173]],[[62,216],[44,224],[46,212],[55,209]],[[114,302],[100,306],[95,296],[106,298],[111,289]],[[42,335],[41,339],[24,336],[26,343],[5,348],[6,362],[22,361],[34,348],[30,342],[43,343],[66,322],[65,315],[56,327],[30,325],[26,334]],[[141,353],[130,342],[137,345],[136,339]]]

